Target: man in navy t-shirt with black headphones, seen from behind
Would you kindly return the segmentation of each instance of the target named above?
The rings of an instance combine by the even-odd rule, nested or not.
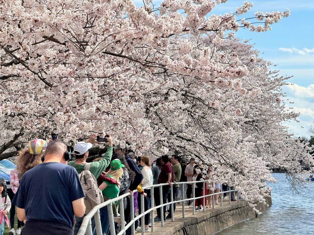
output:
[[[66,165],[66,150],[62,141],[50,141],[45,161],[24,174],[12,202],[19,220],[26,219],[23,235],[72,235],[74,215],[84,215],[84,191],[76,170]]]

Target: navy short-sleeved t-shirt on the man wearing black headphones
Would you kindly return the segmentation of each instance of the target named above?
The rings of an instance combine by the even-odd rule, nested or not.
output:
[[[72,166],[47,162],[27,171],[12,204],[25,209],[27,221],[60,221],[73,227],[72,201],[84,197]]]

